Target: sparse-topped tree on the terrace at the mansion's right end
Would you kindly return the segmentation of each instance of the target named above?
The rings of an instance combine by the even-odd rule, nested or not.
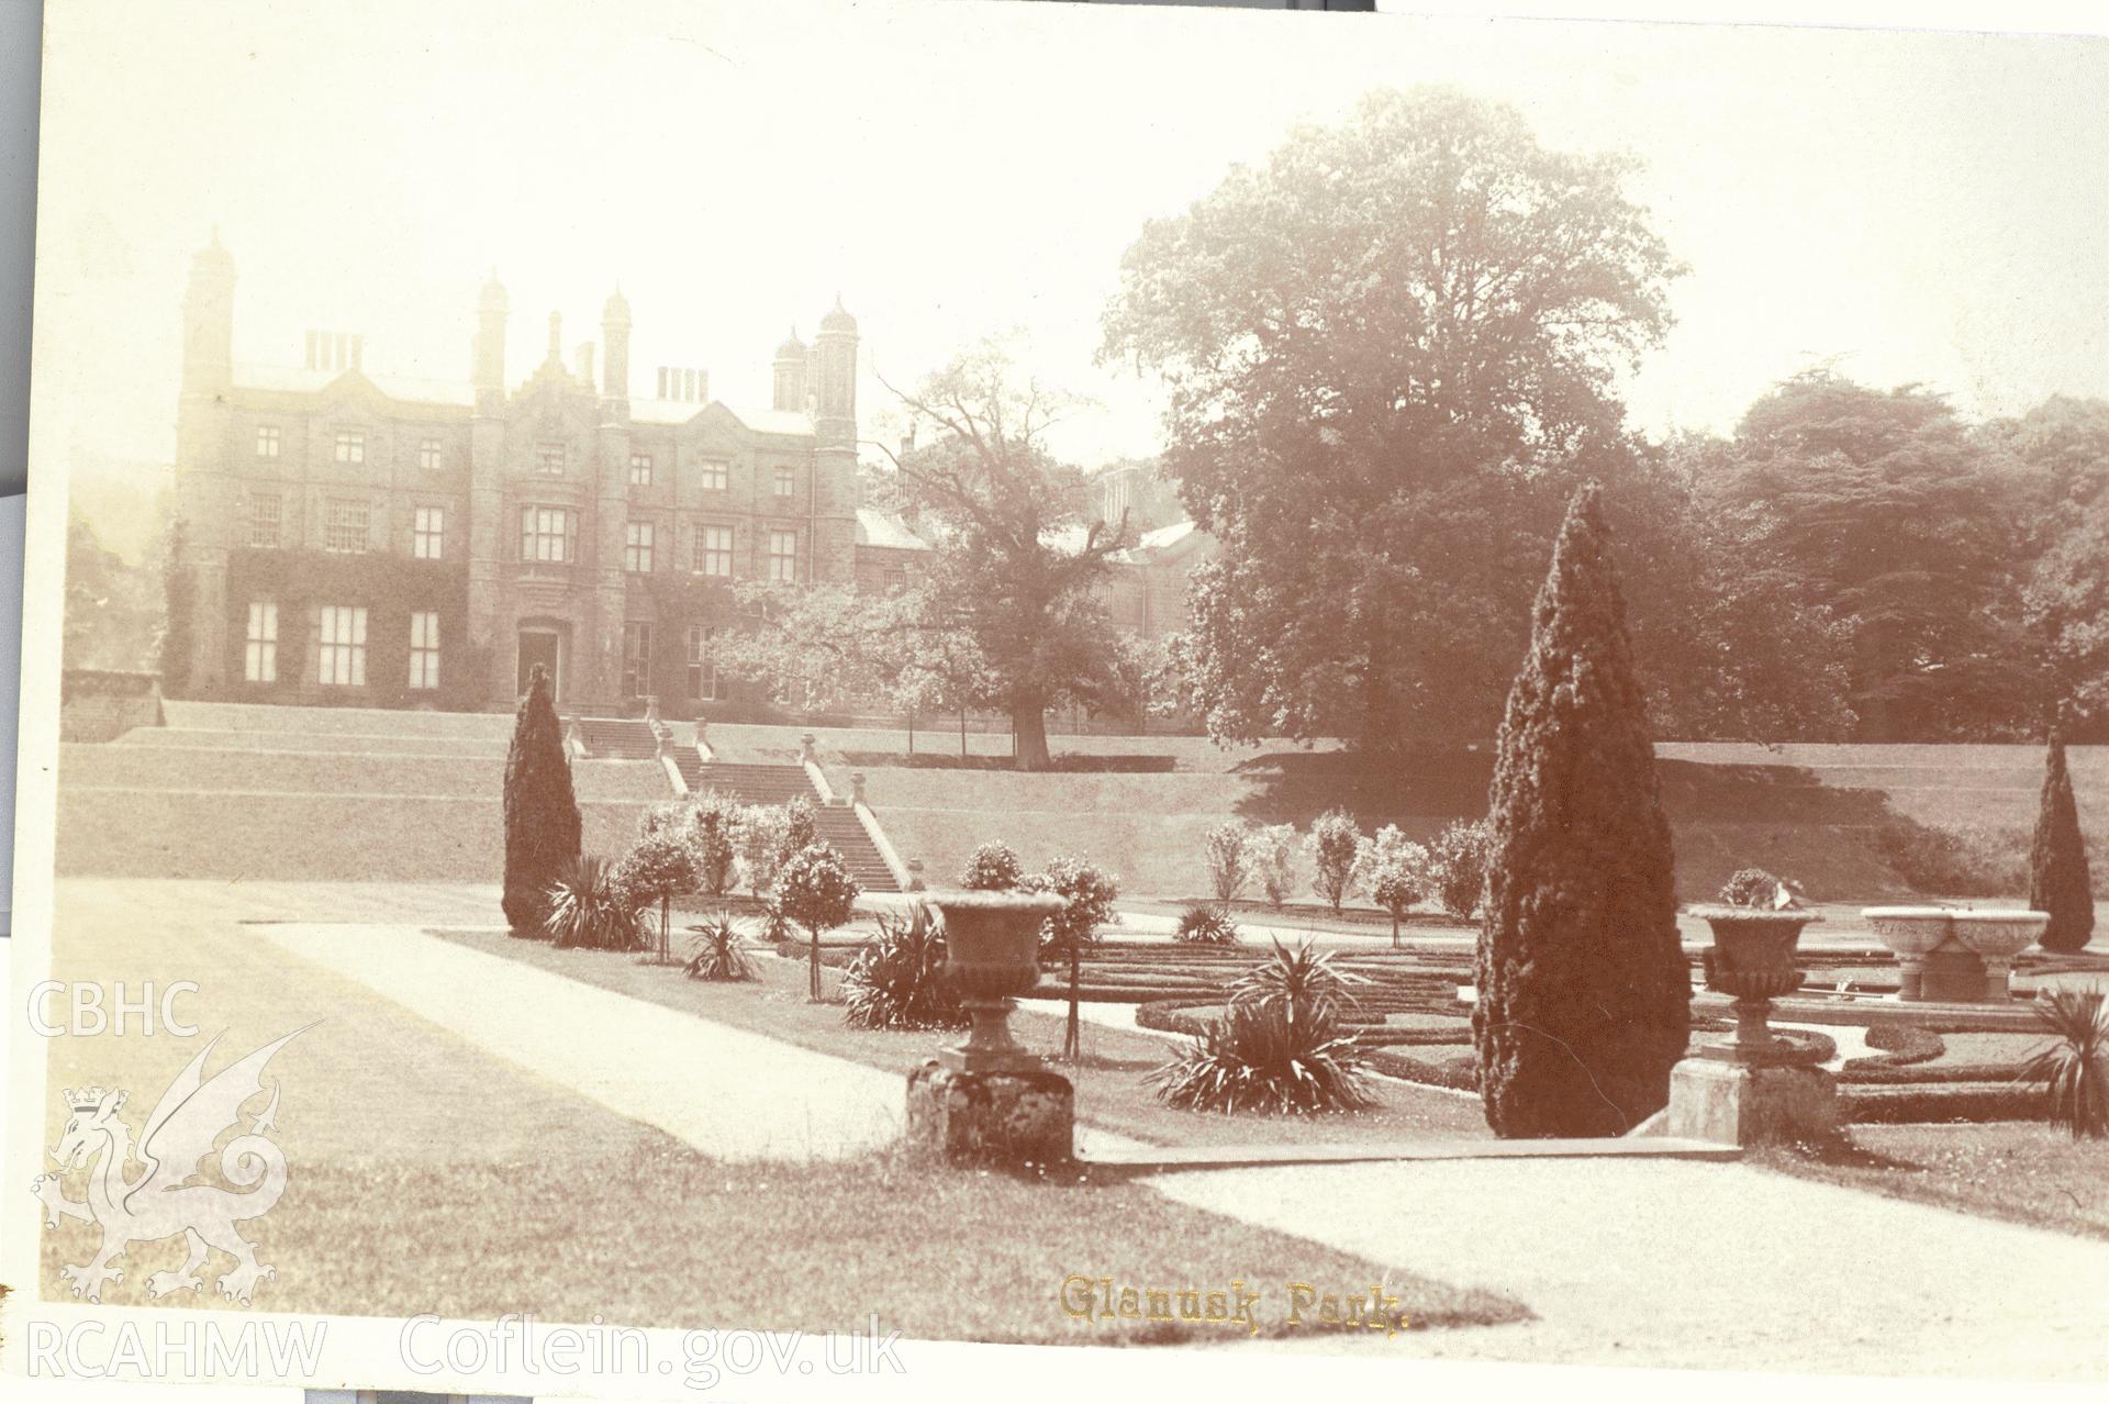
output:
[[[1044,443],[1069,405],[987,342],[911,392],[936,434],[894,460],[894,491],[934,538],[909,654],[924,677],[957,677],[1010,713],[1019,769],[1046,769],[1046,710],[1126,706],[1137,679],[1099,597],[1126,523],[1086,510],[1084,474]],[[934,649],[953,635],[964,649]]]

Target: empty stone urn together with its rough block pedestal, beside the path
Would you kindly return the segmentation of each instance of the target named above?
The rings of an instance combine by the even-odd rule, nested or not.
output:
[[[1061,898],[939,892],[945,980],[968,1035],[909,1073],[907,1143],[947,1164],[1061,1164],[1076,1151],[1076,1090],[1010,1037],[1014,995],[1040,982],[1040,923]]]

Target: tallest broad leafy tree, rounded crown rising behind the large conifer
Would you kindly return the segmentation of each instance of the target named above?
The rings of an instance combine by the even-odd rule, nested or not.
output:
[[[1223,544],[1183,647],[1215,736],[1493,725],[1561,504],[1632,460],[1613,375],[1670,320],[1626,175],[1381,91],[1143,228],[1105,354],[1162,377]]]

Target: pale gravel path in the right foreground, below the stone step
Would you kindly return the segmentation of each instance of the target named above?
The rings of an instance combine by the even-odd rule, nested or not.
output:
[[[1371,1351],[1666,1368],[2109,1377],[2109,1244],[1740,1164],[1413,1162],[1160,1174],[1160,1193],[1537,1322]]]

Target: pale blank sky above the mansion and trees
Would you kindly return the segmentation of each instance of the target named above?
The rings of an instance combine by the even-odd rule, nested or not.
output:
[[[620,282],[633,396],[692,365],[766,407],[774,346],[839,293],[875,434],[882,377],[1017,329],[1095,403],[1057,449],[1145,455],[1154,388],[1095,363],[1143,221],[1415,82],[1641,158],[1689,266],[1624,386],[1647,434],[1727,432],[1816,363],[1972,415],[2109,396],[2103,40],[957,0],[209,13],[49,4],[32,476],[167,464],[215,228],[236,363],[299,365],[323,327],[369,371],[466,379],[496,270],[515,382],[550,310],[572,358]]]

